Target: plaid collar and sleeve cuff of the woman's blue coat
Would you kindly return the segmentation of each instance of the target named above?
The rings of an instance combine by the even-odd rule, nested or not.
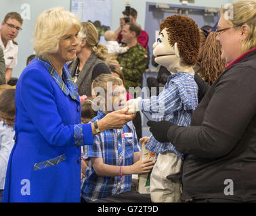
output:
[[[63,80],[62,80],[62,78],[59,76],[58,72],[56,72],[56,70],[51,65],[51,63],[49,63],[48,61],[45,61],[39,56],[36,56],[35,59],[37,59],[38,61],[43,63],[43,65],[45,65],[45,68],[47,68],[49,74],[51,74],[52,78],[54,78],[54,81],[56,82],[56,84],[58,84],[62,92],[64,92],[66,96],[68,96],[69,94],[74,101],[78,101],[80,104],[79,93],[77,92],[77,84],[75,84],[74,81],[72,80],[70,72],[68,71],[68,66],[65,64],[64,68],[62,69],[62,77],[63,77]],[[74,139],[75,139],[75,144],[77,146],[83,145],[82,124],[74,125]]]

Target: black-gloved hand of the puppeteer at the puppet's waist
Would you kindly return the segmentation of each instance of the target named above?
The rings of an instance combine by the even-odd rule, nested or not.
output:
[[[167,132],[173,124],[169,121],[148,121],[147,125],[158,142],[170,142],[167,138]]]

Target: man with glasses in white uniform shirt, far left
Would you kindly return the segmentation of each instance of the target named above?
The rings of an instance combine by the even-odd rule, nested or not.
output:
[[[0,46],[5,57],[5,82],[12,77],[12,69],[17,65],[18,43],[14,40],[22,29],[22,18],[16,12],[6,14],[0,30]]]

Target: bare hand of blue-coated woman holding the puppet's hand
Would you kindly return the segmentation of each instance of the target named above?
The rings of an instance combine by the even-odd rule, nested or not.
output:
[[[135,114],[128,115],[126,114],[128,109],[120,109],[117,111],[112,111],[108,113],[103,119],[98,121],[98,127],[100,131],[114,129],[114,128],[123,128],[128,121],[131,121]]]

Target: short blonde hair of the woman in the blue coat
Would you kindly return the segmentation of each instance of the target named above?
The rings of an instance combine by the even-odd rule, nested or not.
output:
[[[75,26],[79,31],[81,21],[63,7],[54,7],[41,13],[35,22],[33,49],[39,57],[49,59],[49,54],[59,49],[60,38]]]

